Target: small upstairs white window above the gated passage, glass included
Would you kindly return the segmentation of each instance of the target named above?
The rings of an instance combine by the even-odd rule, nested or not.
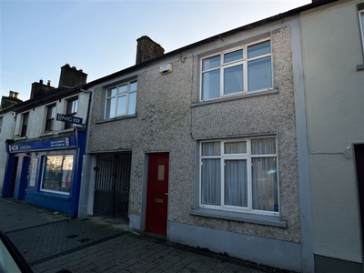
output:
[[[107,88],[105,118],[136,114],[137,81]]]

